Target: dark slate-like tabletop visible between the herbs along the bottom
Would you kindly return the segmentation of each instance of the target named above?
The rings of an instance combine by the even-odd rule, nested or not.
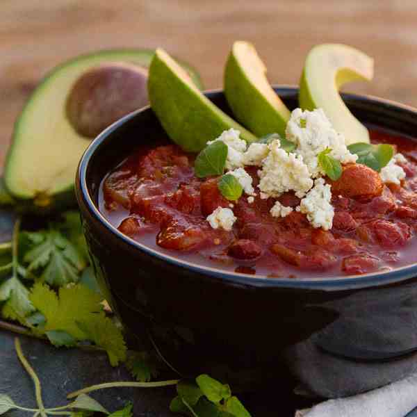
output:
[[[6,393],[22,407],[35,407],[35,396],[31,378],[26,374],[15,353],[15,334],[0,332],[0,393]],[[45,407],[66,404],[66,395],[85,386],[102,382],[129,380],[123,366],[112,368],[101,352],[85,352],[78,349],[56,349],[44,341],[19,336],[22,350],[42,383]],[[105,389],[91,396],[109,411],[120,409],[133,401],[135,416],[169,417],[172,388],[157,389]],[[270,391],[251,395],[239,395],[252,417],[293,417],[296,398],[285,388],[272,386]],[[298,403],[304,407],[305,403]],[[28,416],[19,410],[9,411],[7,417]]]

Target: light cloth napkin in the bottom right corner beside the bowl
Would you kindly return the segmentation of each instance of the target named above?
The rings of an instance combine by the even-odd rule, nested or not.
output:
[[[295,417],[404,417],[417,407],[417,373],[367,393],[328,400]]]

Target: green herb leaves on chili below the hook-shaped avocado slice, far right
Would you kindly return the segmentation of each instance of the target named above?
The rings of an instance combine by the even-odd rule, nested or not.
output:
[[[347,147],[351,154],[357,154],[357,163],[366,165],[379,172],[391,161],[394,155],[394,148],[386,143],[371,145],[369,143],[357,142]]]

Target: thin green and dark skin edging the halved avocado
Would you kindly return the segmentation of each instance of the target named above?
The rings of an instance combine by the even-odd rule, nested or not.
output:
[[[15,208],[15,211],[18,213],[28,213],[33,215],[51,215],[51,213],[55,213],[58,211],[61,211],[65,208],[75,207],[76,206],[76,198],[74,193],[74,180],[72,183],[69,183],[67,187],[61,189],[58,193],[52,193],[51,195],[48,195],[50,201],[48,204],[45,205],[38,205],[35,203],[35,200],[33,198],[26,198],[22,195],[19,195],[18,190],[12,190],[8,187],[8,175],[9,175],[9,165],[10,160],[13,156],[13,150],[15,146],[18,145],[17,138],[17,131],[19,130],[19,125],[24,122],[24,115],[26,112],[26,109],[31,104],[31,101],[38,97],[38,93],[44,85],[49,83],[49,81],[61,70],[65,70],[65,67],[69,67],[72,65],[76,65],[77,62],[85,62],[85,60],[88,60],[89,58],[99,58],[103,57],[102,62],[106,62],[106,57],[109,55],[115,55],[120,54],[124,60],[129,61],[129,56],[132,56],[133,58],[138,59],[138,56],[141,56],[143,58],[142,63],[137,63],[137,65],[142,65],[143,67],[149,67],[152,58],[155,54],[154,49],[106,49],[102,51],[97,51],[95,53],[91,54],[83,54],[80,56],[76,56],[75,58],[72,58],[70,60],[65,61],[64,63],[61,63],[60,65],[57,65],[52,69],[46,76],[44,76],[44,79],[40,81],[38,86],[33,90],[30,97],[28,97],[28,100],[26,101],[26,104],[22,108],[21,113],[17,117],[17,120],[15,121],[15,126],[13,129],[13,137],[12,141],[10,143],[10,147],[8,149],[8,152],[6,154],[6,161],[4,165],[4,174],[3,178],[1,178],[3,191],[4,191],[4,199],[0,199],[0,206],[13,206]],[[121,60],[122,60],[121,58]],[[193,67],[188,65],[187,63],[183,63],[183,61],[178,60],[178,62],[183,66],[188,73],[191,76],[191,79],[193,79],[195,85],[197,85],[198,88],[204,88],[204,84],[202,83],[202,79],[200,78],[197,70],[195,70]],[[57,85],[58,88],[58,85]]]

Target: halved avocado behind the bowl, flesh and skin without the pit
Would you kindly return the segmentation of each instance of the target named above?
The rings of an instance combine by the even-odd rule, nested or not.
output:
[[[4,183],[17,208],[49,213],[75,203],[74,179],[79,160],[91,142],[77,133],[65,113],[72,85],[101,63],[126,62],[149,67],[151,49],[115,49],[79,56],[54,68],[34,90],[15,122],[6,156]],[[197,72],[181,63],[202,88]]]

